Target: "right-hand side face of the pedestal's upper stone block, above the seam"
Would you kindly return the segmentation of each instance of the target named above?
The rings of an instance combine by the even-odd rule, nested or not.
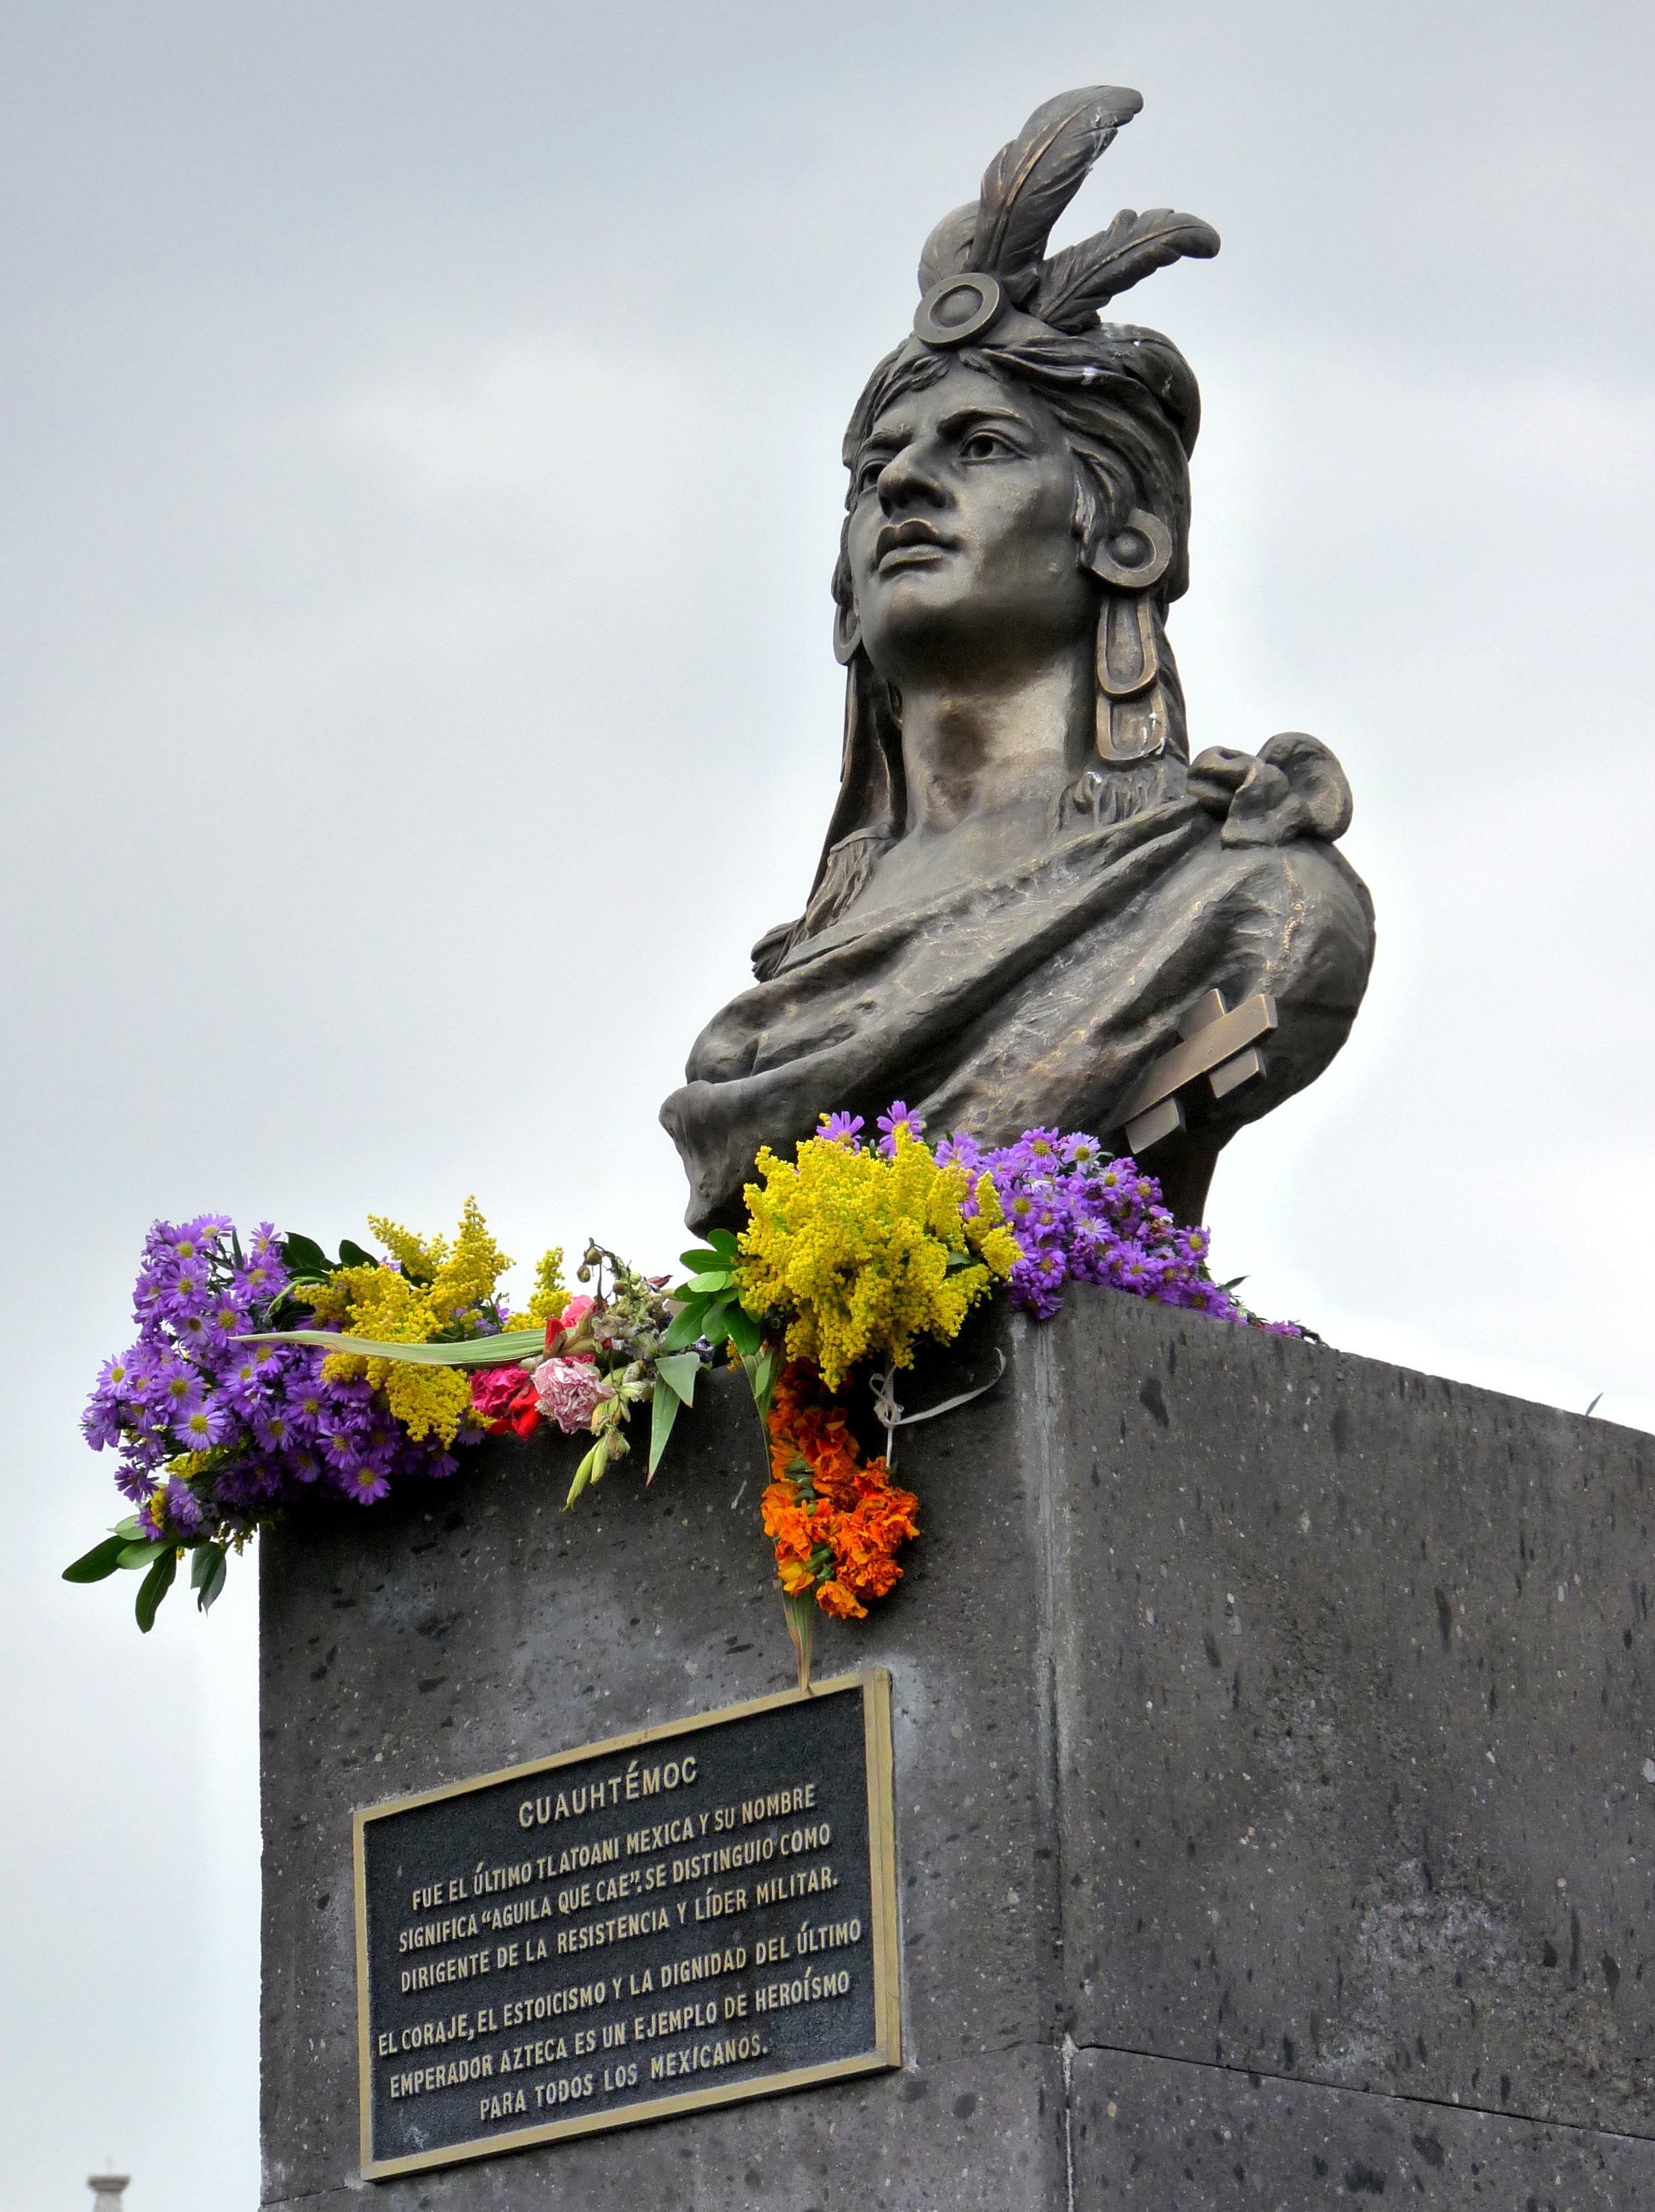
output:
[[[1655,2132],[1651,1438],[1084,1329],[1033,1345],[1075,2039]]]

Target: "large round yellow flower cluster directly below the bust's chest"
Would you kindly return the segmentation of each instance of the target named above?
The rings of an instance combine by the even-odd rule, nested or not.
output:
[[[907,1130],[894,1159],[812,1137],[790,1166],[766,1146],[759,1175],[741,1303],[754,1318],[783,1314],[785,1356],[810,1360],[830,1391],[858,1360],[912,1367],[916,1338],[949,1343],[1020,1259],[989,1177],[971,1192],[958,1161],[938,1166]],[[962,1219],[969,1194],[978,1210]]]

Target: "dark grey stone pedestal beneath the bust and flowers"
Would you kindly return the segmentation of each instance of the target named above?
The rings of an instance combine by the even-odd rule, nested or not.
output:
[[[1655,2205],[1655,1438],[1075,1292],[905,1385],[901,2073],[356,2172],[350,1816],[790,1681],[743,1387],[263,1540],[266,2203]],[[1648,1778],[1646,1778],[1648,1776]]]

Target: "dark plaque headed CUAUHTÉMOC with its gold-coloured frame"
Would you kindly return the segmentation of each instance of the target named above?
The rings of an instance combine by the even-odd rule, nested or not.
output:
[[[901,2064],[889,1677],[356,1814],[363,2174]]]

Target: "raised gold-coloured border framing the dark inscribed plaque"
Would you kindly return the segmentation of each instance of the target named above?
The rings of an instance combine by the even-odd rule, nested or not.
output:
[[[874,2048],[852,2059],[828,2059],[821,2066],[794,2066],[779,2075],[759,2075],[748,2081],[726,2081],[717,2088],[677,2090],[673,2097],[650,2097],[646,2104],[631,2104],[624,2112],[580,2112],[571,2119],[544,2121],[538,2128],[511,2128],[507,2135],[489,2135],[471,2143],[449,2143],[443,2150],[416,2152],[403,2159],[374,2157],[374,2048],[367,2020],[367,1854],[365,1834],[369,1820],[389,1814],[414,1812],[416,1805],[438,1805],[445,1798],[469,1796],[473,1790],[491,1790],[524,1774],[549,1774],[553,1767],[575,1765],[584,1759],[602,1759],[608,1752],[631,1752],[639,1743],[664,1743],[670,1736],[686,1736],[701,1728],[717,1728],[721,1721],[741,1721],[754,1712],[774,1712],[781,1705],[805,1705],[816,1697],[834,1692],[863,1692],[863,1743],[867,1767],[867,1860],[872,1887],[870,1949],[874,1958]],[[712,2104],[746,2104],[750,2097],[781,2097],[785,2090],[812,2088],[819,2081],[841,2081],[850,2075],[883,2073],[903,2064],[903,1989],[901,1989],[901,1944],[896,1933],[896,1812],[894,1812],[894,1767],[892,1767],[892,1677],[885,1668],[863,1668],[856,1674],[836,1674],[832,1681],[814,1683],[810,1690],[779,1690],[772,1697],[752,1697],[741,1705],[719,1705],[717,1712],[697,1712],[686,1721],[664,1721],[659,1728],[637,1728],[628,1736],[606,1736],[602,1743],[582,1743],[573,1752],[555,1752],[551,1759],[529,1759],[516,1767],[498,1767],[493,1774],[471,1774],[462,1783],[445,1783],[440,1790],[418,1790],[414,1796],[387,1798],[383,1805],[367,1805],[352,1814],[352,1863],[356,1891],[356,2073],[361,2108],[361,2174],[363,2181],[389,2181],[394,2174],[416,2174],[431,2166],[458,2166],[465,2159],[493,2159],[507,2150],[527,2150],[533,2143],[558,2143],[571,2135],[600,2135],[611,2128],[635,2128],[650,2119],[673,2119],[679,2112],[699,2112]]]

